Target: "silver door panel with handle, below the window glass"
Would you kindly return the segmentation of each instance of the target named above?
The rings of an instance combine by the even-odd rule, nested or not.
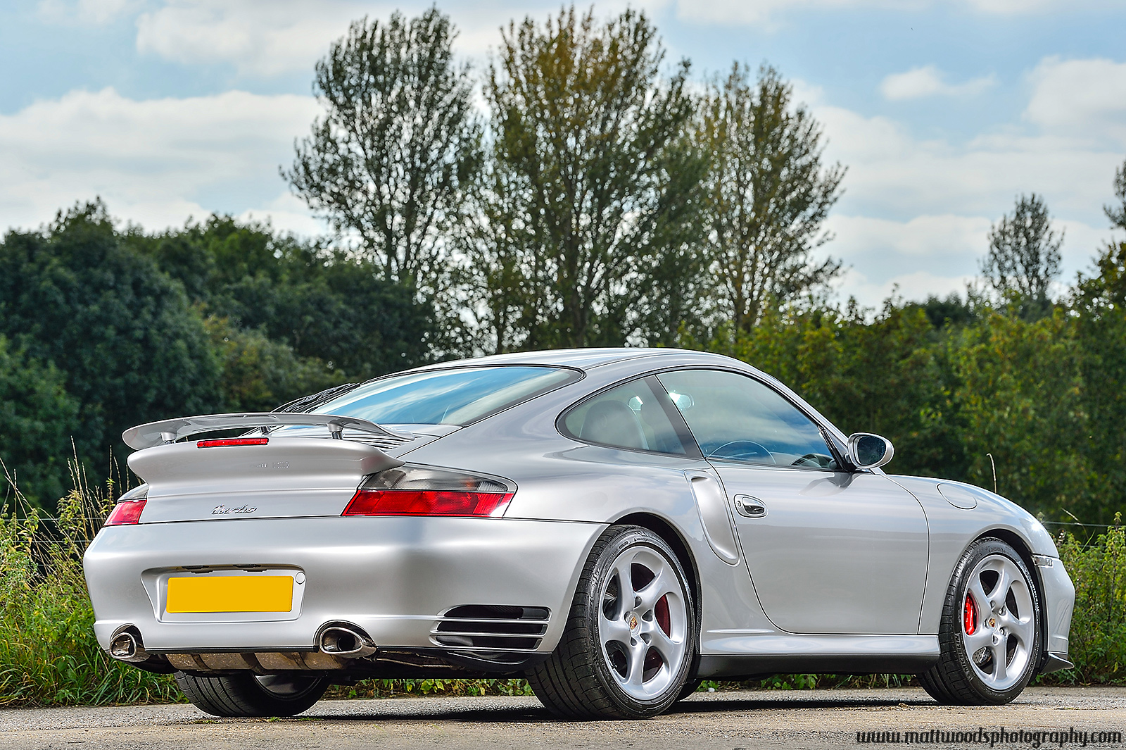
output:
[[[713,465],[775,625],[790,633],[918,632],[928,541],[913,495],[879,474]]]

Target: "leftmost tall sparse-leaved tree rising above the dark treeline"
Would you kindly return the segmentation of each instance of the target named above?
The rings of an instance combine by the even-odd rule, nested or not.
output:
[[[282,172],[385,280],[427,293],[440,285],[443,236],[480,166],[473,86],[454,63],[455,36],[436,8],[354,23],[316,64],[327,113]]]

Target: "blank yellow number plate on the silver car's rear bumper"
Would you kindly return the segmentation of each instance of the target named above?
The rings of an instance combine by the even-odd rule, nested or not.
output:
[[[289,611],[291,575],[191,575],[168,579],[170,613]]]

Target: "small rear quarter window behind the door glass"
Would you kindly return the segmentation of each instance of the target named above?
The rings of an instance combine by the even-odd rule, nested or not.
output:
[[[580,403],[564,414],[560,427],[584,443],[685,455],[685,443],[669,418],[672,409],[661,384],[645,377]]]

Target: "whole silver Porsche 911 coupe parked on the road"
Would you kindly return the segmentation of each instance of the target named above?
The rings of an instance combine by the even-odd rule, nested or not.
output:
[[[485,357],[124,437],[144,484],[86,554],[98,641],[221,716],[368,677],[526,676],[565,717],[776,672],[1001,704],[1071,666],[1035,518],[885,474],[887,440],[718,355]]]

